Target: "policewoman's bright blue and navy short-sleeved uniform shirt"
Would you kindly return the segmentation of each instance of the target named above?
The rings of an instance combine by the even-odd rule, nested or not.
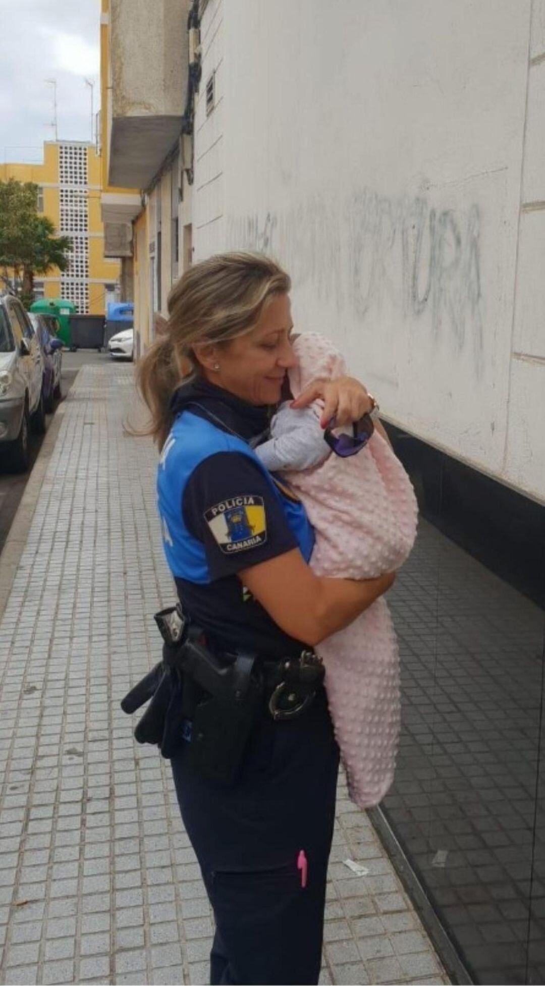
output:
[[[158,469],[165,553],[184,610],[226,650],[266,657],[298,653],[244,590],[238,572],[299,547],[308,561],[313,531],[303,504],[248,445],[268,410],[196,380],[174,396],[175,414]]]

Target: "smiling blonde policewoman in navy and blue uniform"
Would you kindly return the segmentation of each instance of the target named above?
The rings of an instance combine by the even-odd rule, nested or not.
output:
[[[263,689],[230,783],[198,769],[198,701],[171,756],[216,920],[212,983],[318,980],[339,753],[321,679],[312,687],[306,673],[312,646],[393,581],[315,576],[305,509],[253,452],[295,361],[290,287],[261,254],[190,267],[139,368],[162,450],[159,511],[183,614],[220,664],[249,656]],[[316,397],[324,423],[333,414],[356,421],[371,406],[349,378],[316,382],[301,403]],[[222,730],[227,743],[229,718],[216,737]]]

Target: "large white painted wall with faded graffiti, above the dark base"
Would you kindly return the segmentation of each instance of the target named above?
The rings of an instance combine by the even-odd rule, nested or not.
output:
[[[544,0],[531,8],[210,2],[201,99],[212,58],[224,98],[199,131],[196,212],[222,219],[196,252],[278,256],[297,326],[338,342],[386,417],[545,499]]]

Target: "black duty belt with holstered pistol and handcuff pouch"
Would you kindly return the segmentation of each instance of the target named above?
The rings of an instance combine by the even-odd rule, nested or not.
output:
[[[323,681],[323,665],[309,650],[279,661],[214,653],[179,606],[157,613],[156,621],[163,661],[121,702],[128,713],[149,702],[135,739],[157,743],[166,757],[184,745],[191,769],[208,780],[233,784],[263,712],[275,722],[303,715]]]

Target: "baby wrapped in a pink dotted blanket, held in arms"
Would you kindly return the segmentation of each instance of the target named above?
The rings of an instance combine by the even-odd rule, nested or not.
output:
[[[297,397],[314,378],[346,373],[334,346],[315,332],[300,335],[298,366],[289,373]],[[376,430],[350,458],[336,456],[319,423],[321,407],[281,404],[271,439],[256,454],[282,471],[301,496],[316,541],[310,567],[320,576],[372,579],[407,558],[416,535],[417,505],[403,466]],[[399,657],[383,597],[344,630],[315,648],[350,796],[360,808],[382,800],[393,780],[399,735]]]

